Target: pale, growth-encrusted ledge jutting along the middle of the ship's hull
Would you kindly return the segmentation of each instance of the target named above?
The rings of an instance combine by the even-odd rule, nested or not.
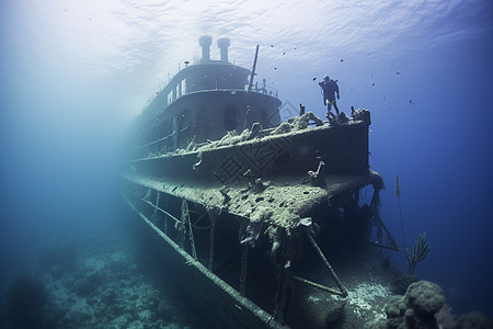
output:
[[[365,185],[380,184],[381,177],[369,171],[367,175],[325,177],[323,188],[312,186],[308,175],[279,178],[264,183],[265,190],[252,191],[245,184],[227,188],[220,184],[203,184],[194,181],[173,181],[126,174],[125,179],[177,198],[222,209],[250,222],[262,222],[276,227],[293,228],[313,208],[328,204],[335,195],[359,190]]]

